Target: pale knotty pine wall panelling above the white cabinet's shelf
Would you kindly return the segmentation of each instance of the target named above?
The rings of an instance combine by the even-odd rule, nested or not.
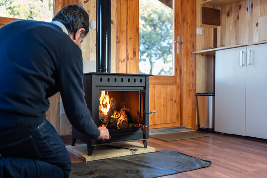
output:
[[[267,15],[266,0],[252,0],[251,19],[248,19],[247,0],[227,4],[221,8],[221,46],[258,42],[259,17]]]

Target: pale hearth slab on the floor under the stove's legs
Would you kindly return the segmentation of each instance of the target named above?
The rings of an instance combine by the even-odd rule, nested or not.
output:
[[[101,160],[101,159],[114,158],[120,156],[150,153],[156,151],[155,148],[150,146],[144,148],[144,145],[142,143],[137,143],[137,142],[111,143],[109,145],[123,147],[123,148],[117,149],[107,145],[95,146],[93,154],[91,156],[87,155],[86,144],[76,145],[76,146],[68,145],[66,146],[66,149],[84,161],[94,161],[94,160]],[[137,149],[138,151],[132,151],[124,148]]]

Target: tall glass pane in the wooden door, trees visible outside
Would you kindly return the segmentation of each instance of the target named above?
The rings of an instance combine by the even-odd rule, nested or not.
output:
[[[139,29],[139,73],[174,75],[172,0],[140,0]]]

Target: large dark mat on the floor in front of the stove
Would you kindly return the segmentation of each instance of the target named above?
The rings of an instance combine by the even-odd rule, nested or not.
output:
[[[156,178],[210,166],[176,151],[157,151],[72,164],[70,178]]]

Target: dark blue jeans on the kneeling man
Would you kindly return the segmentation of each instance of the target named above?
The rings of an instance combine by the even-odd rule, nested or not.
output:
[[[69,154],[54,127],[0,127],[0,178],[67,178]]]

